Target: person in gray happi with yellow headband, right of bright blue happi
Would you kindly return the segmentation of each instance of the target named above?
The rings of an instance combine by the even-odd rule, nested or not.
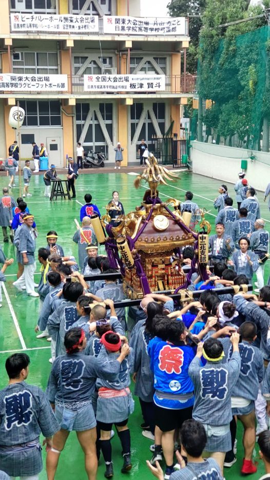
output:
[[[192,417],[201,421],[207,436],[205,451],[213,456],[223,471],[225,453],[232,447],[229,424],[232,419],[231,395],[241,368],[239,334],[230,337],[232,357],[221,363],[222,343],[214,338],[200,342],[196,357],[191,361],[188,374],[194,383],[195,402]],[[201,366],[201,357],[206,359]],[[222,415],[221,415],[222,412]]]

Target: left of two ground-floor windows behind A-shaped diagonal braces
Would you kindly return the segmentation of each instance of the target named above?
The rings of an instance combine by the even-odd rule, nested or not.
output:
[[[113,130],[113,106],[112,103],[100,103],[100,114],[105,123],[106,130],[112,141]],[[76,103],[76,133],[77,142],[80,141],[82,131],[84,128],[85,120],[89,111],[89,103]],[[99,123],[97,114],[94,112],[90,120],[85,140],[83,142],[85,150],[102,150],[105,155],[108,155],[108,145],[105,140],[101,125]]]

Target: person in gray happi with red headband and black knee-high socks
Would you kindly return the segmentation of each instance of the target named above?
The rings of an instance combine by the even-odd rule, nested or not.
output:
[[[110,434],[112,424],[117,427],[118,436],[122,445],[124,464],[122,473],[128,472],[131,465],[130,431],[128,429],[128,416],[134,410],[134,401],[129,390],[130,372],[133,368],[134,353],[127,343],[122,346],[121,338],[117,333],[106,332],[101,337],[103,347],[98,360],[110,369],[123,349],[128,349],[128,355],[121,363],[120,371],[114,381],[98,378],[96,382],[99,390],[97,421],[101,430],[100,447],[106,464],[106,478],[113,475]]]

